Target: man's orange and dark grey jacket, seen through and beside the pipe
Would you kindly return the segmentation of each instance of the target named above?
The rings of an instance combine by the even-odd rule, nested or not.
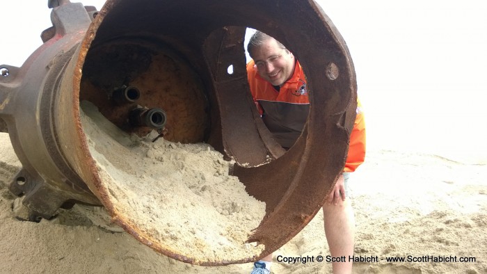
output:
[[[293,75],[279,91],[262,79],[253,61],[247,64],[247,77],[250,92],[264,123],[276,140],[286,147],[289,142],[286,143],[285,139],[297,138],[308,118],[310,101],[303,67],[296,61]],[[365,120],[361,108],[362,104],[357,99],[357,116],[350,135],[349,154],[346,157],[344,172],[355,171],[365,160]],[[293,113],[286,113],[287,111]],[[294,143],[294,140],[291,143]]]

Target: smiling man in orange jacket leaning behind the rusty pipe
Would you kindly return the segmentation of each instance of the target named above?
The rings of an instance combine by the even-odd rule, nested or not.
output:
[[[301,135],[310,108],[303,68],[278,40],[257,31],[248,42],[247,76],[255,105],[273,138],[285,149]],[[358,102],[344,172],[323,206],[325,234],[331,257],[353,256],[355,218],[346,197],[349,172],[365,159],[365,122]],[[255,262],[252,273],[270,273],[272,255]],[[332,262],[333,273],[351,273],[353,261]]]

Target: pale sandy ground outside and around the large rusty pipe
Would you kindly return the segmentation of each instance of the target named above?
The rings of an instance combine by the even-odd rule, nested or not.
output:
[[[103,208],[75,206],[40,223],[17,220],[8,184],[20,167],[8,134],[0,134],[0,273],[250,273],[251,264],[202,267],[159,255],[113,227]],[[378,261],[356,262],[353,273],[487,273],[486,181],[486,165],[369,151],[351,177],[355,251]],[[287,264],[278,255],[314,261]],[[329,255],[321,211],[274,253],[272,271],[330,273],[319,255]],[[387,261],[401,257],[415,261]]]

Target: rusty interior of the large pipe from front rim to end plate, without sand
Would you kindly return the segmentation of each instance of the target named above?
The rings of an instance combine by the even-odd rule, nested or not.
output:
[[[294,16],[282,17],[285,14]],[[246,26],[272,35],[293,51],[308,76],[311,106],[320,106],[311,108],[302,136],[287,152],[271,138],[250,97]],[[106,184],[106,177],[115,175],[95,163],[81,129],[88,168],[74,169],[116,223],[169,257],[215,266],[269,255],[310,222],[344,166],[355,110],[355,74],[340,33],[312,1],[108,0],[75,61],[74,104],[90,102],[127,136],[143,138],[157,131],[174,143],[208,143],[235,161],[230,175],[266,203],[265,216],[246,241],[247,248],[255,249],[242,257],[191,252],[205,248],[198,241],[194,246],[168,245],[158,238],[162,232],[125,215]],[[330,67],[333,73],[327,74]],[[154,186],[153,191],[161,190]]]

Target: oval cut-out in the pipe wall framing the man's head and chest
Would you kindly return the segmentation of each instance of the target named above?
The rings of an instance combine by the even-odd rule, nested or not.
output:
[[[255,35],[256,32],[259,33]],[[257,62],[253,61],[248,51],[253,51],[258,47],[256,45],[264,43],[272,50],[264,53],[252,52],[252,56],[257,59]],[[289,150],[303,133],[310,115],[308,80],[303,73],[302,65],[299,63],[297,55],[291,51],[291,47],[260,29],[246,30],[244,47],[249,56],[247,61],[254,62],[253,67],[248,69],[250,81],[253,81],[253,85],[259,86],[261,89],[266,87],[264,83],[267,82],[266,84],[272,86],[271,89],[274,90],[274,92],[266,92],[267,97],[259,95],[260,97],[256,98],[261,114],[260,118],[267,129],[271,131],[273,139],[285,150]],[[299,74],[294,74],[296,70]],[[269,76],[273,72],[278,72],[277,76]],[[263,83],[260,79],[264,79],[265,82]],[[281,90],[280,86],[288,80],[296,84],[286,85],[290,88]],[[282,96],[286,94],[290,94],[290,96]],[[286,107],[285,112],[276,111],[282,110],[283,102],[291,104]],[[292,113],[292,115],[287,113]]]

